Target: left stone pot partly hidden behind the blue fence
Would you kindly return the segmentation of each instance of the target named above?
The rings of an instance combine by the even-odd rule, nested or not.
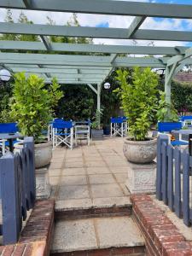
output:
[[[23,143],[15,143],[15,151],[20,150]],[[35,168],[42,168],[49,165],[52,158],[52,142],[35,144]]]

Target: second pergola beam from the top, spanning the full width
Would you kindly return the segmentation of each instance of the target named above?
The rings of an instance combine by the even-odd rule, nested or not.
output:
[[[41,36],[63,36],[76,38],[129,39],[127,29],[112,27],[86,27],[39,25],[0,22],[0,33]],[[130,37],[141,40],[192,41],[192,32],[139,29]]]

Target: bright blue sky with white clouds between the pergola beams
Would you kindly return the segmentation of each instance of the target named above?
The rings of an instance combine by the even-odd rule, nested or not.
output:
[[[70,1],[70,0],[69,0]],[[110,0],[112,1],[112,0]],[[124,0],[129,1],[129,0]],[[133,0],[132,0],[133,1]],[[149,3],[177,3],[190,4],[192,0],[135,0],[135,2],[149,2]],[[41,11],[23,11],[29,20],[36,24],[46,24],[47,16],[55,20],[56,25],[66,25],[67,20],[70,20],[72,14],[70,13],[55,13],[55,12],[41,12]],[[15,21],[20,15],[20,10],[12,10]],[[0,21],[4,20],[6,9],[0,9]],[[128,28],[134,17],[131,16],[113,16],[113,15],[88,15],[78,14],[78,20],[81,26],[96,26],[96,27],[119,27]],[[160,30],[178,30],[178,31],[192,31],[192,20],[177,20],[177,19],[161,19],[161,18],[147,18],[143,25],[143,29],[160,29]],[[119,40],[108,38],[95,38],[95,44],[123,44],[132,45],[132,40]],[[148,45],[150,41],[137,40],[137,45]],[[191,46],[188,42],[166,42],[154,41],[155,46]]]

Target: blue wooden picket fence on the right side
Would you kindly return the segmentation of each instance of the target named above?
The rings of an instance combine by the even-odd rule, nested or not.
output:
[[[156,197],[183,218],[186,225],[192,224],[192,206],[189,183],[192,156],[189,150],[174,148],[166,135],[158,137]],[[192,189],[192,188],[191,188]]]

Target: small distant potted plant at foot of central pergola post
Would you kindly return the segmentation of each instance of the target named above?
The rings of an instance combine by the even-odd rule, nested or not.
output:
[[[96,110],[96,114],[94,116],[94,121],[91,123],[91,137],[92,140],[99,140],[103,137],[103,130],[100,125],[102,116],[102,110]]]

